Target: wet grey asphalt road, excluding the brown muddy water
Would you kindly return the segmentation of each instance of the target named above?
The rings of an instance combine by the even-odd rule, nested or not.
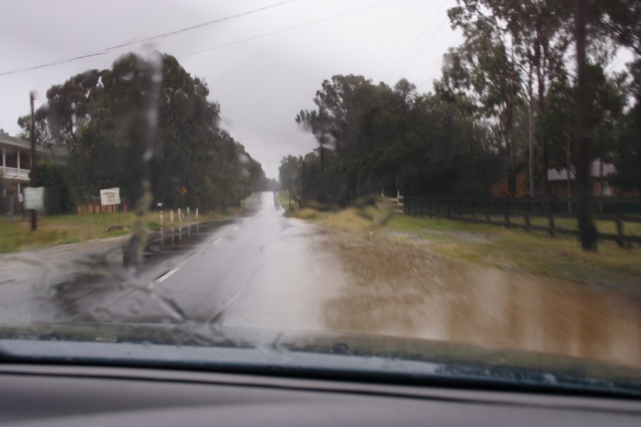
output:
[[[271,192],[248,204],[247,216],[156,236],[139,273],[123,267],[122,241],[5,257],[0,324],[193,320],[322,329],[316,290],[339,273],[315,247],[318,230],[283,217]]]

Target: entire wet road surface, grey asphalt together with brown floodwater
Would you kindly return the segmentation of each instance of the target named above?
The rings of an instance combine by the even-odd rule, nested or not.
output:
[[[574,355],[641,368],[641,292],[474,268],[383,236],[251,216],[164,231],[145,270],[122,242],[5,256],[0,324],[215,322],[387,334]],[[66,252],[65,252],[66,251]],[[80,251],[80,249],[78,249]],[[118,255],[120,253],[120,255]],[[120,256],[120,260],[119,260]]]

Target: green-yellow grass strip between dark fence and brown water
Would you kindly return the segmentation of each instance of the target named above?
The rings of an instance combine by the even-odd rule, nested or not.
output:
[[[580,283],[605,286],[641,285],[641,248],[619,248],[600,242],[596,253],[580,249],[576,238],[551,237],[491,224],[444,218],[393,216],[385,226],[376,218],[385,212],[373,206],[345,209],[325,216],[329,228],[377,233],[410,245],[427,246],[447,258],[494,268],[520,270]],[[385,222],[383,222],[385,223]]]

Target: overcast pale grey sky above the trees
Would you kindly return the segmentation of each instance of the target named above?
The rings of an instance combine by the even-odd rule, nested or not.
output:
[[[439,78],[442,54],[462,41],[447,19],[455,0],[296,0],[104,51],[280,1],[4,0],[0,73],[105,53],[0,75],[0,127],[10,135],[19,132],[16,120],[28,113],[31,90],[38,92],[40,105],[51,85],[71,75],[110,68],[128,51],[158,50],[207,81],[210,99],[221,105],[222,126],[268,176],[277,177],[281,157],[316,146],[294,117],[313,107],[324,79],[353,73],[394,85],[405,77],[427,92]],[[228,43],[234,44],[217,48]]]

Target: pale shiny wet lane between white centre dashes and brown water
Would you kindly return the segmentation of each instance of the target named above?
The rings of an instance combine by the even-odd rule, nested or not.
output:
[[[263,193],[254,216],[214,233],[162,282],[189,318],[234,327],[324,330],[337,260],[315,251],[318,231],[282,216]]]

